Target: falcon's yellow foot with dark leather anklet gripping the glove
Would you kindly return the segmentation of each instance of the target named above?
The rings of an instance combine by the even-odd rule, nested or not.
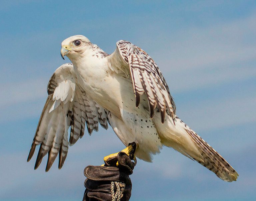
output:
[[[136,143],[135,142],[132,142],[132,143],[129,143],[129,146],[126,147],[125,149],[123,149],[122,151],[120,152],[124,152],[126,153],[128,156],[130,156],[131,160],[134,160],[135,161],[135,164],[136,164],[136,157],[135,157],[135,151],[136,151]],[[118,155],[119,152],[117,153],[112,153],[110,155],[107,155],[104,157],[104,162],[106,165],[110,165],[112,164],[114,161],[116,162],[117,160],[117,155]],[[118,162],[116,162],[116,165],[118,166]]]

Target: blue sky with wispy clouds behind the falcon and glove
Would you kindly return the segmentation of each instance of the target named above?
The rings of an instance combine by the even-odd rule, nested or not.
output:
[[[83,169],[124,145],[85,134],[61,170],[26,162],[61,42],[85,35],[107,53],[128,40],[158,64],[177,115],[239,173],[224,182],[164,147],[138,160],[131,201],[256,200],[256,1],[3,1],[0,7],[0,200],[82,200]],[[38,151],[38,148],[36,149]]]

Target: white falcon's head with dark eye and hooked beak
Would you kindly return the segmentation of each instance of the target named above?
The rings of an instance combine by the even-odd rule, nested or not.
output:
[[[88,45],[91,45],[91,42],[85,36],[71,36],[61,43],[61,57],[64,59],[64,56],[67,55],[69,58],[72,58],[75,55],[83,53]]]

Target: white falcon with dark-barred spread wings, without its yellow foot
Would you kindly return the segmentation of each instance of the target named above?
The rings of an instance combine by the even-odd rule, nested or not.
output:
[[[128,41],[118,41],[107,54],[82,35],[61,44],[61,65],[48,83],[43,108],[28,161],[40,145],[35,169],[48,153],[46,171],[59,154],[62,167],[68,147],[89,135],[98,124],[108,124],[128,147],[136,143],[136,157],[151,161],[162,146],[171,147],[214,172],[224,181],[238,173],[200,136],[176,116],[169,87],[154,60]],[[68,141],[68,129],[70,136]],[[129,147],[128,147],[129,148]]]

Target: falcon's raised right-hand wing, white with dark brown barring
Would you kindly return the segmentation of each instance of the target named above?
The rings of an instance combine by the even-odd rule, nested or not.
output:
[[[164,123],[165,112],[174,120],[175,103],[155,61],[144,50],[128,41],[118,41],[116,46],[114,53],[109,55],[109,63],[114,71],[122,71],[127,76],[130,74],[136,97],[136,107],[140,103],[140,95],[145,93],[148,97],[151,118],[157,107],[161,112],[162,123]],[[115,69],[116,67],[118,69]]]

